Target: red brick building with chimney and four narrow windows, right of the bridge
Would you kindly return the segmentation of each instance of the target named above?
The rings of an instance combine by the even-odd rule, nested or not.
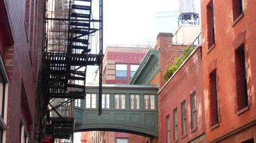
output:
[[[160,44],[161,75],[185,48],[173,45],[171,34],[162,36],[164,37],[161,37],[161,34],[158,36],[160,41],[161,38],[162,41],[168,38],[170,42]],[[165,85],[160,85],[162,88],[158,92],[158,142],[205,142],[202,73],[201,47],[197,47]],[[163,84],[161,77],[160,83]]]

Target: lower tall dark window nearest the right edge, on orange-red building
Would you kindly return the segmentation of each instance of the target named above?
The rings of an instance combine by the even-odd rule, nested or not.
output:
[[[238,110],[248,106],[247,76],[245,66],[245,47],[242,44],[235,55],[236,62],[236,96]]]

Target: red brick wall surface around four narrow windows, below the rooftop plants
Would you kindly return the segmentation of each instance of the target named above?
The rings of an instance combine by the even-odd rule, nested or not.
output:
[[[170,119],[170,142],[174,141],[173,110],[178,115],[178,140],[189,142],[205,132],[201,47],[197,48],[158,93],[159,142],[166,142],[166,117]],[[197,129],[191,128],[191,94],[196,94]],[[186,101],[187,135],[182,136],[181,103]],[[201,138],[200,140],[205,140]]]

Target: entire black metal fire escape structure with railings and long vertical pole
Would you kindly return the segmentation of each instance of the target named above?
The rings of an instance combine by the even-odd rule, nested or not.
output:
[[[88,66],[98,66],[102,95],[102,0],[44,0],[42,60],[43,130],[53,138],[70,139],[75,99],[86,97]],[[101,113],[101,100],[99,100]],[[66,107],[66,108],[63,108]],[[67,109],[62,115],[61,109]]]

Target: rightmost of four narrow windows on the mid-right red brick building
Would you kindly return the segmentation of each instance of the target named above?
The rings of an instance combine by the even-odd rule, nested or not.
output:
[[[191,95],[191,129],[197,127],[197,97],[195,92]]]

